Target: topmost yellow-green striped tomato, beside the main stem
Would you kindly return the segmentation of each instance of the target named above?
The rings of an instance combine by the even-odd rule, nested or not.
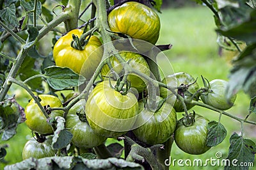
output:
[[[127,2],[108,15],[111,31],[156,44],[159,38],[160,19],[154,10],[137,2]]]

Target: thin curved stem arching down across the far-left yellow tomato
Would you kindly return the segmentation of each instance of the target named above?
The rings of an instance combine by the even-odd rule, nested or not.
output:
[[[35,100],[36,104],[38,105],[38,107],[40,108],[40,110],[43,112],[45,118],[49,118],[49,115],[47,114],[47,112],[45,111],[44,107],[42,106],[42,104],[40,104],[38,98],[35,97],[33,91],[31,91],[31,89],[28,88],[28,86],[26,86],[26,84],[24,84],[24,82],[22,81],[17,81],[16,79],[13,78],[9,78],[8,82],[13,82],[17,85],[19,85],[20,87],[26,89],[26,91],[28,91],[29,95],[31,95],[31,97]]]

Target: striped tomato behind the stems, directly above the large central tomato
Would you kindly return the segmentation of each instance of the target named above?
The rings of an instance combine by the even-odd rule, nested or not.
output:
[[[134,52],[120,52],[120,56],[125,59],[125,61],[129,61],[129,65],[132,68],[138,70],[139,72],[145,73],[146,75],[150,76],[150,69],[148,66],[147,61],[141,56],[140,54]],[[111,65],[113,66],[113,70],[116,73],[120,73],[122,71],[122,65],[119,63],[118,59],[111,56],[110,57]],[[101,71],[102,77],[109,76],[109,67],[108,65],[104,65]],[[127,81],[131,82],[131,87],[136,88],[138,92],[142,92],[143,89],[147,89],[147,85],[145,82],[135,74],[129,74],[127,76]]]

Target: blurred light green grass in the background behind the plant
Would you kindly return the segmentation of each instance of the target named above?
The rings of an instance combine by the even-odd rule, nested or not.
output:
[[[200,75],[203,75],[210,81],[212,79],[226,79],[230,65],[227,63],[224,57],[218,56],[218,45],[216,43],[216,33],[214,32],[215,25],[211,11],[204,7],[198,6],[196,8],[177,8],[177,9],[164,9],[159,14],[161,18],[161,34],[157,44],[172,43],[171,50],[165,51],[166,58],[157,58],[157,61],[162,66],[163,72],[168,75],[174,72],[187,72],[198,77],[198,83],[202,86]],[[166,59],[170,63],[166,62]],[[170,64],[172,66],[170,66]],[[15,89],[15,88],[14,88]],[[19,92],[17,92],[19,93]],[[21,98],[21,97],[20,97]],[[20,100],[21,105],[25,107],[28,99]],[[244,118],[248,113],[248,106],[250,104],[250,98],[243,93],[237,95],[237,100],[232,107],[228,110],[236,116]],[[218,121],[219,114],[217,112],[209,111],[202,107],[193,107],[198,114],[209,118],[209,120]],[[178,114],[178,118],[182,116],[182,113]],[[250,117],[255,120],[255,116]],[[189,158],[190,160],[196,158],[216,158],[216,152],[220,151],[223,154],[223,158],[227,157],[229,147],[229,137],[233,132],[240,133],[240,123],[232,120],[227,116],[222,116],[221,123],[227,128],[228,134],[223,143],[211,148],[203,155],[189,155],[184,153],[176,144],[173,143],[172,148],[172,160],[173,158],[183,160]],[[255,141],[256,134],[253,130],[254,126],[245,125],[245,136]],[[8,144],[6,148],[7,155],[5,160],[6,164],[14,164],[22,160],[22,148],[27,139],[31,137],[30,130],[23,123],[19,125],[17,129],[17,135],[9,141],[0,142],[1,144]],[[109,140],[107,144],[115,140]],[[3,169],[4,164],[0,162],[0,169]],[[204,167],[179,167],[177,162],[175,169],[200,169]],[[218,167],[208,166],[207,169],[218,169]],[[223,167],[220,167],[223,169]]]

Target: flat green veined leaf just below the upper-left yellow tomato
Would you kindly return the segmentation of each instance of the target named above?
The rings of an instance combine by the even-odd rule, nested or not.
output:
[[[81,84],[79,82],[85,81],[82,76],[67,67],[49,66],[44,70],[44,77],[53,89],[61,90],[71,86],[78,86]]]

